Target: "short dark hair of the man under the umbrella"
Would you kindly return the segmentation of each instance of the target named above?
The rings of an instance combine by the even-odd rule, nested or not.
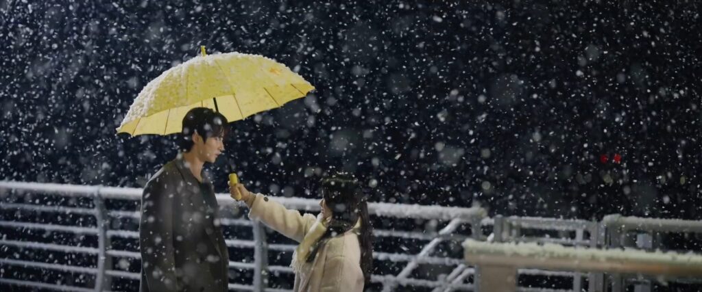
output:
[[[178,137],[180,151],[190,151],[194,132],[197,132],[204,141],[211,137],[224,137],[229,132],[227,118],[206,107],[196,107],[187,111],[183,118],[183,130]]]

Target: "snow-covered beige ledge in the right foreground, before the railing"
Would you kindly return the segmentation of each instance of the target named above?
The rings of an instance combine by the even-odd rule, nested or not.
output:
[[[467,239],[465,260],[477,266],[477,291],[515,291],[517,269],[702,277],[702,255],[633,249],[589,249],[536,243],[491,243]]]

